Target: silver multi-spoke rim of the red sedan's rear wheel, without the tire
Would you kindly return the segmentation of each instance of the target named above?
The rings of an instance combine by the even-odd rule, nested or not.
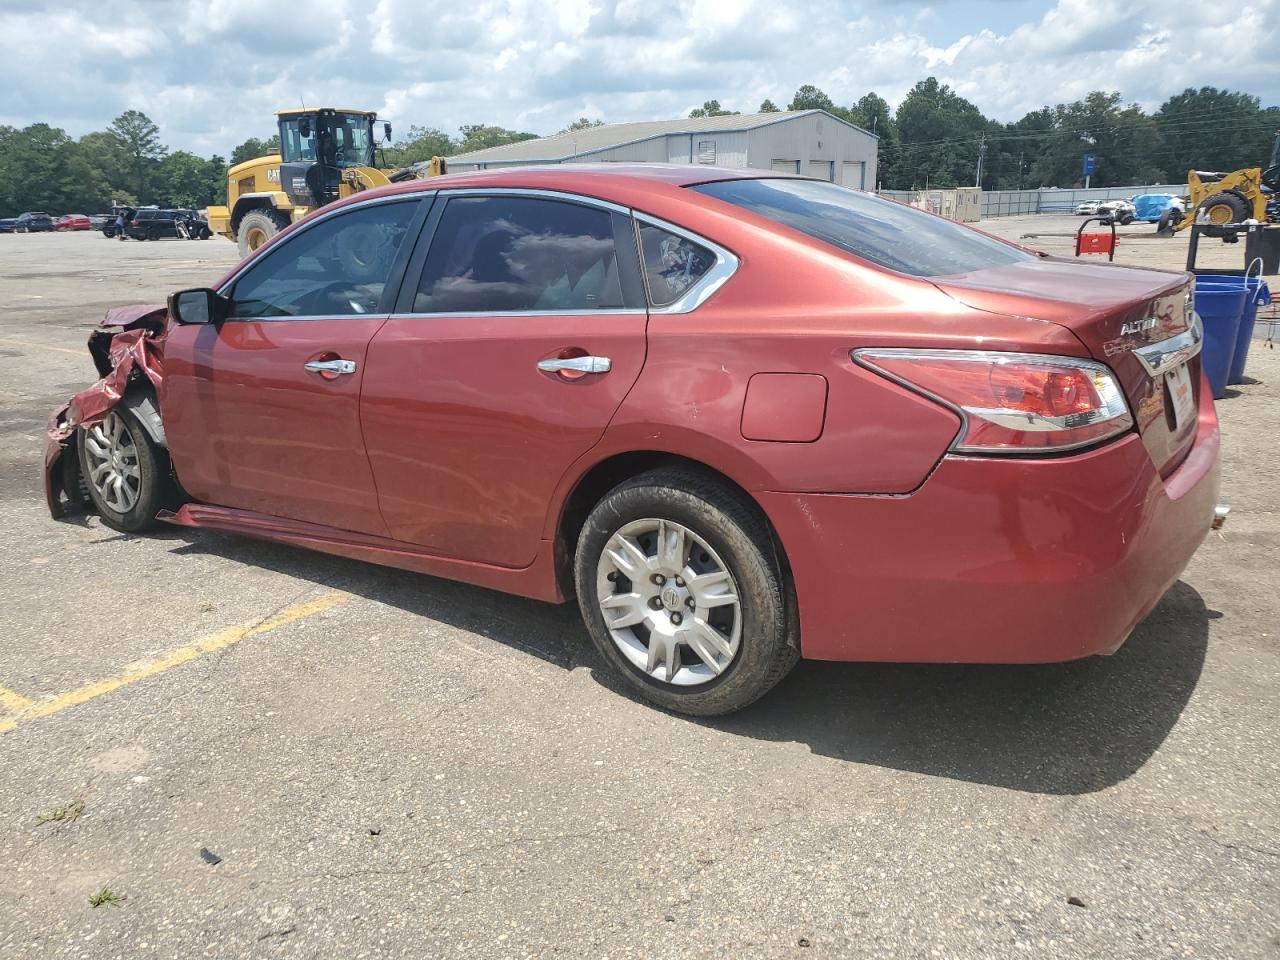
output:
[[[618,652],[652,680],[708,684],[741,648],[732,572],[707,540],[671,520],[635,520],[605,541],[596,600]]]

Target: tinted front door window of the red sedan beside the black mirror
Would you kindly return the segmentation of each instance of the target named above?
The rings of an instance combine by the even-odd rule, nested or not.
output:
[[[330,216],[251,266],[232,291],[236,317],[376,314],[417,198]]]

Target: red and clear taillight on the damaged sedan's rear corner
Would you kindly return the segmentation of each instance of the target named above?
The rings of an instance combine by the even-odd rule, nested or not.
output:
[[[1115,374],[1089,360],[968,349],[859,349],[854,360],[957,411],[955,451],[1070,451],[1133,426]]]

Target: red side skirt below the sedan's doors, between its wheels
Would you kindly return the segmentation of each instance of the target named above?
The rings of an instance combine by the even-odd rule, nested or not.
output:
[[[556,580],[553,557],[556,550],[550,541],[543,541],[538,557],[527,567],[512,570],[490,563],[451,559],[433,553],[425,553],[411,544],[390,540],[384,536],[355,534],[321,524],[306,524],[298,520],[284,520],[265,513],[230,507],[211,507],[204,503],[187,503],[177,512],[161,511],[159,520],[178,526],[220,530],[242,534],[259,540],[303,547],[308,550],[330,553],[335,557],[378,563],[384,567],[411,570],[415,573],[460,580],[465,584],[485,586],[490,590],[529,596],[535,600],[561,603],[564,596]]]

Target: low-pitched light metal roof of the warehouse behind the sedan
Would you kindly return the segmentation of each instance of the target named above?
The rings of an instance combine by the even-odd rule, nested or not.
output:
[[[794,120],[809,114],[824,114],[836,123],[852,127],[868,137],[876,134],[861,127],[841,120],[826,110],[780,110],[767,114],[727,114],[724,116],[682,116],[676,120],[640,120],[637,123],[607,123],[603,127],[588,127],[580,131],[557,133],[553,137],[522,140],[518,143],[503,143],[500,147],[472,150],[470,154],[457,154],[449,157],[451,164],[486,163],[548,163],[568,160],[584,154],[596,154],[602,150],[621,147],[627,143],[690,133],[733,133],[755,129],[771,123]]]

